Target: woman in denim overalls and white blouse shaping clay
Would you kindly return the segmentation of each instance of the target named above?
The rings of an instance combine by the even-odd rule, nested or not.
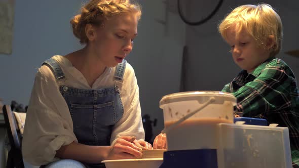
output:
[[[45,61],[35,76],[23,157],[47,167],[99,167],[141,158],[144,142],[132,51],[141,9],[129,0],[93,0],[71,21],[85,47]],[[32,145],[34,143],[34,145]]]

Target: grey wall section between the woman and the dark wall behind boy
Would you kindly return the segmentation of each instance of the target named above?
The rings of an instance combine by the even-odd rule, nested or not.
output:
[[[179,92],[185,26],[174,9],[167,9],[172,4],[140,2],[143,16],[128,60],[137,75],[142,115],[158,119],[154,127],[158,135],[164,128],[159,101],[164,95]]]

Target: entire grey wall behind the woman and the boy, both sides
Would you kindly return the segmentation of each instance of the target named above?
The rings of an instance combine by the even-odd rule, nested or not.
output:
[[[183,1],[183,0],[181,0]],[[154,134],[164,127],[159,108],[162,96],[179,92],[182,48],[188,47],[187,87],[193,90],[221,90],[239,72],[229,47],[217,32],[218,22],[231,8],[258,1],[224,1],[220,11],[207,23],[186,26],[178,17],[176,1],[140,0],[143,15],[138,37],[128,62],[134,67],[140,88],[142,114],[158,118]],[[191,20],[204,17],[218,0],[183,1]],[[282,51],[298,49],[298,1],[269,2],[278,10],[284,24]],[[28,104],[34,74],[42,61],[52,55],[65,55],[82,46],[73,37],[69,19],[77,13],[81,0],[16,1],[12,55],[0,54],[0,97],[4,103],[16,100]],[[168,4],[168,5],[167,5]],[[298,58],[279,54],[299,78]]]

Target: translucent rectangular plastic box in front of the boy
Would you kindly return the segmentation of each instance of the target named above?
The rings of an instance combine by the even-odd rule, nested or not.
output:
[[[218,125],[218,168],[292,167],[288,128],[227,123]]]

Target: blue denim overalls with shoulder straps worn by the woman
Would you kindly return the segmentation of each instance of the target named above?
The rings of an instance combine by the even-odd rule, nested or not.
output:
[[[65,86],[67,80],[54,59],[43,64],[50,66],[59,83],[59,90],[67,103],[78,142],[85,145],[109,146],[113,126],[123,116],[124,108],[120,88],[126,60],[118,64],[114,74],[115,86],[97,90],[84,90]],[[86,164],[87,167],[104,167],[103,164]]]

